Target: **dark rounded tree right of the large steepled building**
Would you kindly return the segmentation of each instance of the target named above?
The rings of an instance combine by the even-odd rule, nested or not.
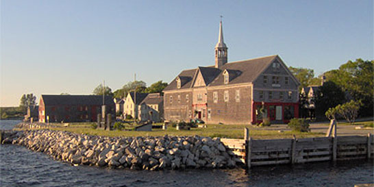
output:
[[[316,94],[316,114],[324,116],[329,108],[344,103],[345,93],[334,82],[325,82]]]

